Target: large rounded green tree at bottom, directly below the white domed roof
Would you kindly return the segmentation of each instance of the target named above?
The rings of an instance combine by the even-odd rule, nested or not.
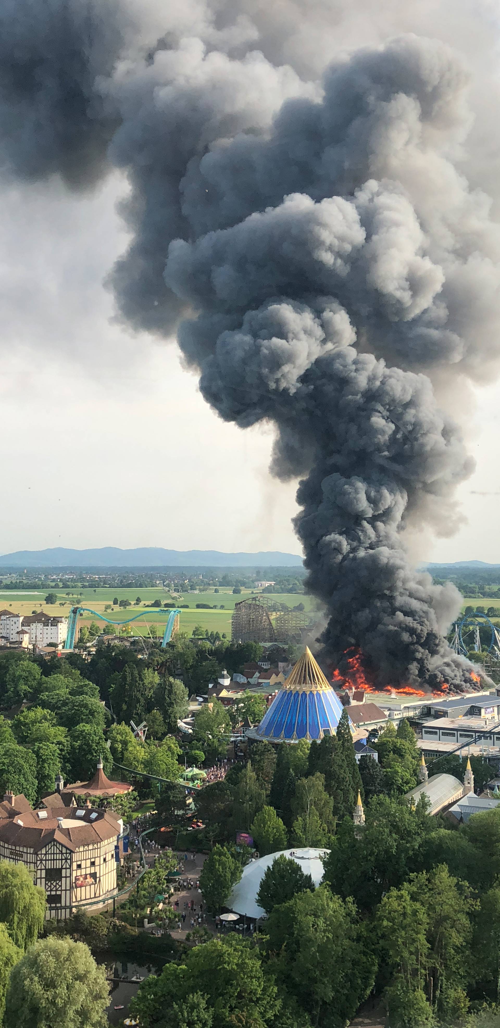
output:
[[[325,885],[276,906],[266,923],[271,968],[313,1023],[343,1028],[370,991],[376,961],[356,908]]]

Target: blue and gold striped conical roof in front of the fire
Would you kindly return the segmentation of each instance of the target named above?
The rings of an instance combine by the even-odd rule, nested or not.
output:
[[[305,652],[264,713],[254,738],[297,742],[334,735],[342,703],[311,650]]]

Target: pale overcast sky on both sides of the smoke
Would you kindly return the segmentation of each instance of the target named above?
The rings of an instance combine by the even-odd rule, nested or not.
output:
[[[0,226],[0,551],[166,546],[298,553],[293,483],[272,479],[271,431],[222,423],[175,342],[113,324],[102,281],[126,237],[116,178],[98,195],[9,189]],[[500,561],[498,387],[477,394],[462,529],[428,560]]]

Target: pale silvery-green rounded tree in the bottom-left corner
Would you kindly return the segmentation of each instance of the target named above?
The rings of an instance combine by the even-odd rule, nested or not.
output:
[[[43,939],[15,964],[6,1028],[106,1028],[109,987],[83,943]]]

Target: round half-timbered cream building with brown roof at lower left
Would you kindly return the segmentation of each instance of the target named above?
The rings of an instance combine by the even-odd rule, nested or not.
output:
[[[23,795],[0,803],[0,860],[25,864],[44,889],[47,918],[63,919],[82,904],[99,910],[116,893],[115,845],[123,822],[108,810],[65,806],[55,794],[33,810]]]

